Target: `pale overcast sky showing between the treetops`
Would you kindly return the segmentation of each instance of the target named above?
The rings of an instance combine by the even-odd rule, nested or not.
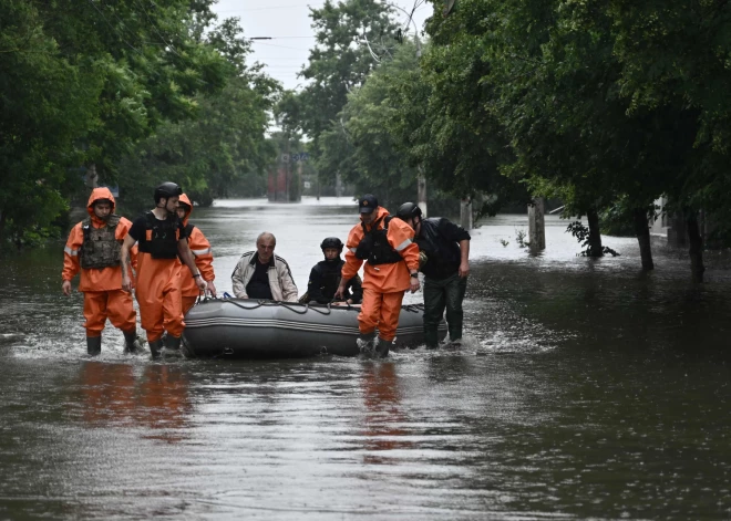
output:
[[[389,3],[411,12],[415,1],[420,2],[391,0]],[[247,37],[275,38],[253,42],[251,62],[266,64],[269,75],[279,80],[285,88],[295,88],[302,83],[302,79],[297,77],[297,72],[307,62],[309,49],[315,43],[308,6],[320,8],[323,4],[325,0],[218,0],[213,9],[220,19],[238,17]],[[431,3],[424,3],[414,12],[414,21],[420,32],[424,20],[431,13]],[[401,23],[405,24],[409,17],[399,10],[397,14]],[[413,25],[409,33],[413,34]]]

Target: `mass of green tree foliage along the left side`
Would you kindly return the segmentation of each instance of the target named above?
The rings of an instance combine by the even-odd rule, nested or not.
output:
[[[278,85],[212,3],[0,0],[0,237],[39,241],[85,204],[84,166],[133,206],[162,176],[210,200],[260,170]]]

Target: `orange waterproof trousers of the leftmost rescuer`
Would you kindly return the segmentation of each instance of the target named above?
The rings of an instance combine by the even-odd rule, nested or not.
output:
[[[137,329],[132,295],[122,290],[84,291],[84,319],[86,336],[101,336],[106,319],[125,332]]]

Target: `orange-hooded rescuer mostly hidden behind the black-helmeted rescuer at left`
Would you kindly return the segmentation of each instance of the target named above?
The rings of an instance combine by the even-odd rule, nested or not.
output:
[[[208,284],[208,291],[210,294],[216,296],[216,286],[213,282],[216,274],[213,270],[210,242],[208,242],[206,236],[203,235],[203,231],[188,223],[191,213],[193,213],[193,204],[191,202],[191,199],[188,199],[188,196],[183,194],[177,201],[177,217],[183,221],[183,226],[185,227],[185,236],[188,238],[188,247],[195,259],[195,265],[198,267],[200,277],[203,277],[203,280]],[[200,290],[198,290],[195,279],[191,277],[191,273],[186,270],[181,270],[181,293],[183,298],[183,316],[185,316],[200,294]]]

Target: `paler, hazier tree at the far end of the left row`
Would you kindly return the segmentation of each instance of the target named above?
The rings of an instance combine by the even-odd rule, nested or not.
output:
[[[124,205],[134,210],[150,206],[154,186],[163,180],[178,183],[198,205],[262,176],[275,155],[265,133],[279,84],[248,66],[250,44],[238,20],[228,19],[210,31],[206,42],[230,65],[220,93],[196,96],[196,116],[166,121],[142,140],[122,161],[120,189]]]

